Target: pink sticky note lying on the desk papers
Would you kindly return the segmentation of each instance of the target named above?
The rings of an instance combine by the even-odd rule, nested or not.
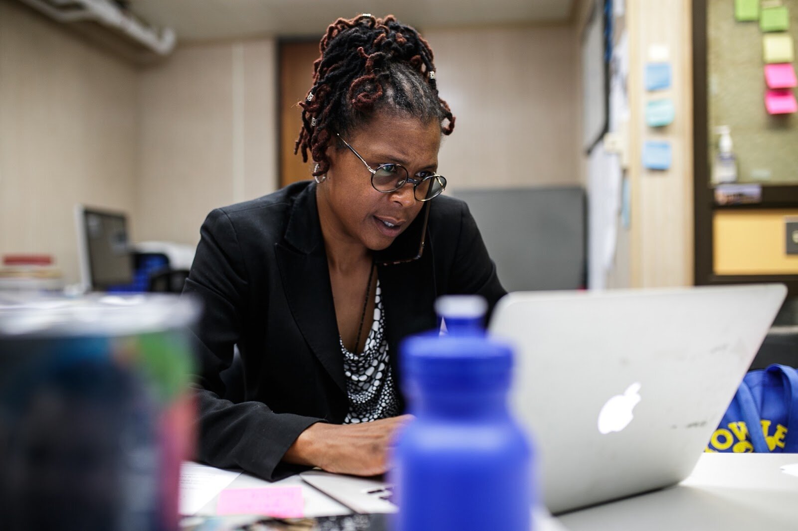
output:
[[[223,490],[216,504],[217,514],[265,514],[278,518],[302,518],[304,501],[301,486],[273,486],[259,489]]]

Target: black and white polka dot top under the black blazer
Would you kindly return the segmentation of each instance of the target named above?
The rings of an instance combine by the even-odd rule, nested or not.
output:
[[[353,354],[339,337],[344,355],[346,394],[349,413],[345,424],[367,423],[399,415],[399,398],[388,362],[388,340],[385,339],[385,314],[382,311],[382,291],[377,279],[374,318],[365,340],[362,354]]]

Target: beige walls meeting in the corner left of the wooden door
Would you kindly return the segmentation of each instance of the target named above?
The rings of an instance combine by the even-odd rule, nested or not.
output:
[[[137,69],[0,2],[0,255],[52,254],[77,281],[76,203],[196,245],[209,210],[275,190],[275,73],[271,39]]]

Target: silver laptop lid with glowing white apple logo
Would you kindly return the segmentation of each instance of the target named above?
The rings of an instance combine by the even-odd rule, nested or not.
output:
[[[784,285],[510,293],[512,405],[560,513],[689,475],[784,301]]]

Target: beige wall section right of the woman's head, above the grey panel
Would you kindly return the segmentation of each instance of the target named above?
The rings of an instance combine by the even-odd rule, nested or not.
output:
[[[423,33],[457,119],[439,157],[450,190],[581,183],[571,26]]]

